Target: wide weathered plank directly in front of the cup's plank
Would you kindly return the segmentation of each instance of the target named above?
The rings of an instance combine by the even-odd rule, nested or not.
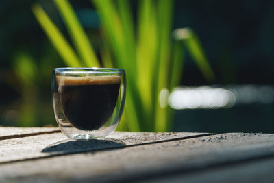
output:
[[[1,164],[0,178],[129,182],[179,175],[182,179],[189,173],[251,163],[263,157],[274,157],[274,134],[218,134]]]

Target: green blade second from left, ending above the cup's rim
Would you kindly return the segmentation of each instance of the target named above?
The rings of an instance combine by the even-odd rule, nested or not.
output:
[[[88,67],[99,67],[100,64],[97,60],[95,52],[90,45],[88,40],[88,36],[84,32],[81,24],[79,23],[71,4],[67,0],[53,0],[56,7],[58,8],[62,19],[66,23],[66,27],[69,30],[69,34],[73,40],[73,44],[75,45],[79,56],[81,56],[82,60]]]

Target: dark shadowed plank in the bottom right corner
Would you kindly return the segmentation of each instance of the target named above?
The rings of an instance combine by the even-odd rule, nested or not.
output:
[[[143,182],[274,182],[274,157],[262,158],[240,164],[212,167],[192,173],[154,177]]]

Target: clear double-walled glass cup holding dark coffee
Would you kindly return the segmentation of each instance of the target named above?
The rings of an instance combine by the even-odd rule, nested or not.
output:
[[[51,95],[62,133],[88,140],[114,132],[123,113],[125,88],[123,69],[54,69]]]

